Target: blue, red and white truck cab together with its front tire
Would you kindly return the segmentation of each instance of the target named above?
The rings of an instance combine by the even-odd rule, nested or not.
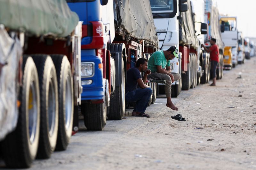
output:
[[[102,130],[110,103],[110,52],[115,38],[112,0],[67,0],[82,24],[81,113],[88,130]],[[113,61],[112,61],[113,63]],[[112,78],[113,79],[113,78]]]

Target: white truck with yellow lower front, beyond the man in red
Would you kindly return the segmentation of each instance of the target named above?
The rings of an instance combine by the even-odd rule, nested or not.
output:
[[[224,53],[224,69],[230,70],[232,67],[236,67],[237,60],[237,17],[221,16],[220,17],[220,29],[221,29],[221,39],[224,42],[225,50]],[[230,55],[229,50],[231,50]]]

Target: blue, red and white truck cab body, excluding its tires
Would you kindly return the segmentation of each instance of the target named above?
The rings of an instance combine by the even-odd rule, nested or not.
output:
[[[111,12],[106,11],[103,7],[108,1],[67,0],[67,2],[71,11],[75,11],[79,19],[83,21],[81,40],[82,103],[103,102],[104,81],[106,81],[106,44],[110,42],[110,22],[107,21],[109,18],[107,14]],[[104,21],[106,24],[103,23]]]

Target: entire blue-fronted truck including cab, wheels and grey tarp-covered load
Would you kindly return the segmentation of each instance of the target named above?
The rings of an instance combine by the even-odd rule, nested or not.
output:
[[[67,0],[83,21],[81,41],[84,125],[102,130],[125,114],[126,70],[157,50],[148,0]],[[152,103],[156,100],[156,83]]]

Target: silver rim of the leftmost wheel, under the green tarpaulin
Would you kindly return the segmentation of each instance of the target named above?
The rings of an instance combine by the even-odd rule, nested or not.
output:
[[[28,96],[28,128],[29,128],[29,141],[32,144],[36,137],[37,128],[37,93],[36,93],[36,82],[31,82],[29,86],[29,96]]]

